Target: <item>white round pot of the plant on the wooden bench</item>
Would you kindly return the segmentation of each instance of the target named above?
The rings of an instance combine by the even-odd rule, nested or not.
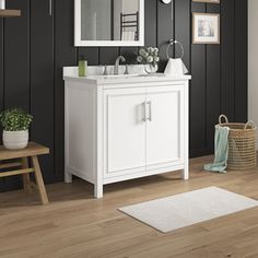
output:
[[[28,131],[3,131],[2,141],[8,150],[25,149],[28,143]]]

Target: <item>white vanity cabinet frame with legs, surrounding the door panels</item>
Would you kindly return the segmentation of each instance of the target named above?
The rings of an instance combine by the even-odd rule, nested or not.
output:
[[[181,171],[181,178],[189,178],[188,168],[188,81],[190,77],[183,78],[141,78],[122,80],[96,80],[96,79],[80,79],[73,77],[64,77],[66,81],[66,181],[72,181],[72,175],[75,175],[84,180],[87,180],[95,186],[94,196],[96,198],[103,197],[103,187],[107,184],[128,180],[132,178],[145,177],[161,173],[168,173],[173,171]],[[132,167],[125,167],[122,171],[114,171],[114,167],[121,167],[121,163],[116,163],[112,167],[112,173],[108,173],[108,99],[114,97],[130,96],[142,94],[139,97],[139,105],[141,102],[149,102],[150,94],[165,94],[171,93],[172,97],[178,95],[178,126],[179,130],[179,154],[178,159],[172,157],[167,162],[167,152],[164,163],[152,164],[150,166],[143,164],[137,167],[138,164],[131,161]],[[165,96],[165,95],[164,95]],[[122,101],[124,98],[121,98]],[[126,98],[125,98],[126,99]],[[128,98],[130,101],[130,98]],[[127,101],[128,101],[127,99]],[[136,101],[132,98],[133,102]],[[169,99],[169,98],[168,98]],[[177,98],[172,98],[177,99]],[[133,103],[133,105],[138,105]],[[122,105],[122,102],[120,102]],[[130,104],[130,103],[129,103]],[[128,104],[128,105],[129,105]],[[115,103],[113,108],[119,106],[119,102]],[[166,108],[166,106],[164,106]],[[169,106],[173,107],[173,106]],[[176,106],[175,106],[176,107]],[[152,108],[155,108],[153,106]],[[160,106],[160,108],[163,108]],[[154,114],[155,109],[153,109]],[[161,110],[160,110],[161,112]],[[124,113],[121,113],[124,114]],[[166,112],[166,114],[168,114]],[[119,118],[119,113],[115,114]],[[150,114],[146,114],[146,118]],[[131,119],[131,118],[130,118]],[[153,117],[155,119],[155,117]],[[124,118],[124,121],[125,118]],[[180,125],[177,125],[179,122]],[[114,122],[116,125],[116,122]],[[125,124],[127,125],[127,124]],[[131,124],[130,124],[131,125]],[[151,126],[151,121],[146,119],[143,121],[144,130]],[[113,122],[109,125],[113,126]],[[122,127],[121,127],[122,128]],[[116,129],[116,128],[115,128]],[[116,130],[115,130],[116,132]],[[121,132],[122,133],[122,132]],[[130,133],[129,133],[130,134]],[[132,141],[134,139],[133,133]],[[157,136],[159,137],[159,136]],[[140,136],[139,139],[142,137]],[[114,140],[112,138],[109,140]],[[173,140],[173,138],[171,138]],[[175,139],[175,138],[174,138]],[[115,140],[114,140],[115,141]],[[165,142],[163,140],[163,142]],[[136,142],[138,144],[138,142]],[[142,142],[140,143],[142,144]],[[144,144],[144,143],[143,143]],[[119,145],[118,145],[119,146]],[[122,146],[122,144],[121,144]],[[148,151],[148,150],[145,150]],[[169,151],[169,148],[168,148]],[[117,153],[117,152],[116,152]],[[119,154],[118,154],[119,155]],[[133,156],[133,155],[132,155]],[[118,156],[119,157],[119,156]],[[116,155],[115,155],[116,159]],[[144,157],[145,159],[145,157]],[[117,165],[118,164],[118,165]],[[130,163],[129,163],[130,164]]]

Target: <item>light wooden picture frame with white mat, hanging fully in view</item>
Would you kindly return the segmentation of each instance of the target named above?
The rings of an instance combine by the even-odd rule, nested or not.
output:
[[[220,44],[220,14],[192,13],[192,44]]]

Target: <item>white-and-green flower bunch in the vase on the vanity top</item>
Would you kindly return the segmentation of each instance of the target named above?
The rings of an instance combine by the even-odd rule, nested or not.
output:
[[[137,57],[137,61],[140,63],[151,64],[155,67],[160,61],[159,48],[156,47],[141,48],[139,50],[139,56]]]

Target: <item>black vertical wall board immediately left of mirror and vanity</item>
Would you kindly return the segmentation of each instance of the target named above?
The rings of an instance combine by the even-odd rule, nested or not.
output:
[[[63,178],[64,171],[64,87],[60,79],[63,67],[77,63],[77,49],[71,36],[72,9],[73,2],[70,0],[55,1],[55,180]]]

